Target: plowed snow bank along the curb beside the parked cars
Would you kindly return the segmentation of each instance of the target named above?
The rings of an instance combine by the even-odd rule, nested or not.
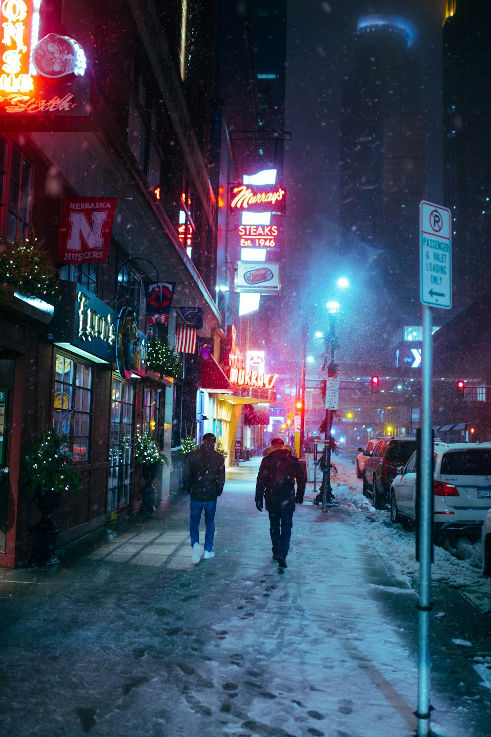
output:
[[[415,559],[414,532],[402,525],[393,525],[388,510],[378,511],[361,494],[361,481],[356,469],[347,461],[336,458],[338,473],[331,480],[333,494],[340,506],[352,513],[356,525],[363,528],[363,537],[381,555],[388,557],[400,571],[400,578],[412,586],[417,584],[420,566]],[[461,593],[481,612],[491,612],[491,586],[482,576],[481,541],[459,539],[453,548],[435,546],[431,579],[461,590]]]

